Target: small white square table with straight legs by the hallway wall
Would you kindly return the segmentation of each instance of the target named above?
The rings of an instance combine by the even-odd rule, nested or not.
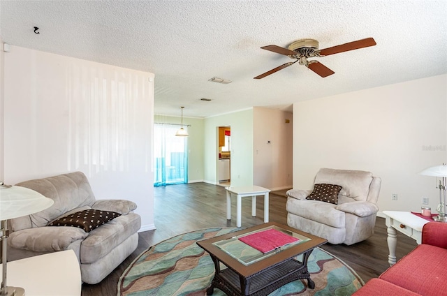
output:
[[[268,193],[270,189],[261,186],[229,186],[226,188],[226,219],[231,220],[231,193],[237,196],[236,226],[240,227],[242,217],[242,198],[251,196],[251,216],[256,217],[256,195],[264,195],[264,223],[268,223]]]

